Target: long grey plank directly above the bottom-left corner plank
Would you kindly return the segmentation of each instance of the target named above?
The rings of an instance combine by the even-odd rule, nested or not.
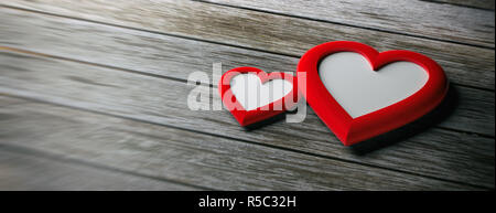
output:
[[[1,102],[1,100],[0,100]],[[474,190],[417,175],[28,103],[0,108],[2,145],[223,190]]]

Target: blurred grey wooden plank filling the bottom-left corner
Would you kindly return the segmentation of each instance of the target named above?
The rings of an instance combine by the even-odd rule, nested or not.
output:
[[[6,98],[1,98],[4,102]],[[7,99],[8,102],[8,99]],[[0,120],[4,120],[1,115]],[[1,131],[6,129],[2,127]],[[56,131],[54,129],[54,131]],[[0,137],[0,190],[198,190],[143,177],[66,163],[3,146]],[[28,152],[28,153],[22,153]],[[63,159],[63,158],[62,158]]]

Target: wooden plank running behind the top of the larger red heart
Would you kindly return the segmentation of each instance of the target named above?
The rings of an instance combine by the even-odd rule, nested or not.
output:
[[[229,45],[244,46],[249,49],[257,49],[261,51],[281,53],[287,55],[292,55],[299,57],[310,47],[317,45],[320,43],[336,41],[336,40],[351,40],[351,41],[359,41],[366,44],[369,44],[376,47],[379,51],[386,50],[411,50],[416,52],[423,53],[429,55],[439,62],[444,70],[446,71],[450,81],[463,85],[476,86],[486,89],[494,90],[495,88],[495,77],[494,77],[494,61],[495,61],[495,52],[494,50],[479,49],[474,46],[466,46],[453,43],[438,42],[425,39],[418,39],[391,33],[385,33],[374,30],[365,30],[359,28],[351,28],[343,26],[341,24],[332,24],[324,23],[317,21],[302,20],[296,18],[289,18],[283,15],[274,15],[268,14],[263,12],[241,10],[241,9],[233,9],[219,6],[213,6],[207,3],[200,2],[191,2],[191,1],[160,1],[153,3],[143,3],[134,4],[132,1],[105,1],[98,3],[89,3],[89,2],[73,2],[73,1],[53,1],[53,2],[32,2],[32,1],[7,1],[1,4],[22,7],[32,10],[40,10],[51,13],[57,13],[62,15],[75,17],[80,19],[88,19],[98,22],[107,22],[111,24],[126,25],[129,28],[138,28],[144,29],[153,32],[161,32],[168,34],[174,34],[177,36],[187,36],[192,39],[200,39],[216,43],[224,43]],[[141,10],[137,10],[140,8]],[[136,14],[136,11],[144,11],[139,15]],[[6,14],[8,15],[8,14]],[[26,14],[23,14],[26,15]],[[29,15],[28,15],[29,17]],[[7,20],[8,17],[6,17]],[[40,17],[44,21],[47,21],[45,18]],[[71,32],[77,34],[84,34],[87,38],[91,38],[91,40],[85,40],[85,38],[77,38],[77,42],[85,42],[83,45],[88,45],[90,49],[95,51],[88,53],[80,53],[77,50],[80,50],[78,44],[78,49],[65,50],[68,49],[66,46],[58,46],[57,42],[53,41],[43,33],[43,35],[37,35],[36,33],[29,32],[31,28],[17,29],[12,25],[15,24],[25,24],[25,26],[35,26],[36,19],[31,19],[30,22],[21,22],[22,20],[8,19],[10,21],[4,21],[3,24],[9,26],[9,29],[13,29],[13,32],[18,36],[12,36],[9,33],[9,36],[2,36],[4,43],[13,43],[15,45],[18,42],[12,41],[21,38],[25,38],[25,40],[33,40],[30,42],[30,46],[35,49],[34,46],[43,47],[44,51],[47,49],[54,49],[52,52],[61,54],[60,51],[72,51],[66,53],[71,56],[78,56],[88,60],[90,55],[96,55],[91,61],[97,61],[98,63],[104,64],[122,64],[122,66],[133,66],[136,67],[137,63],[134,62],[143,62],[140,66],[143,66],[141,70],[160,70],[160,62],[154,61],[155,63],[147,63],[152,60],[150,58],[141,58],[141,57],[152,57],[164,60],[161,54],[164,51],[170,51],[173,44],[166,43],[158,43],[157,41],[165,40],[161,35],[147,35],[143,36],[142,33],[123,31],[118,29],[105,29],[98,28],[98,30],[103,30],[101,33],[97,30],[90,32],[82,32],[77,30],[77,26],[71,28],[67,24],[64,24],[65,28],[71,28],[72,31],[61,31],[61,30],[43,30],[43,25],[36,28],[36,30],[41,30],[41,32],[52,31],[53,35],[48,38],[52,39],[61,39],[57,36],[58,33],[62,33],[66,36],[72,35]],[[40,22],[43,22],[40,21]],[[53,19],[48,19],[53,21]],[[163,20],[163,21],[158,21]],[[56,21],[55,21],[56,22]],[[61,21],[65,22],[65,21]],[[68,21],[67,21],[68,22]],[[78,25],[86,25],[85,23],[79,22],[69,22]],[[202,23],[202,24],[192,24],[192,23]],[[50,28],[57,29],[56,25],[51,25]],[[76,28],[76,29],[75,29]],[[93,26],[91,26],[93,28]],[[114,30],[118,32],[126,32],[125,35],[111,34],[111,36],[116,36],[116,39],[103,36],[109,36],[108,31]],[[55,33],[56,32],[56,33]],[[6,32],[8,33],[8,32]],[[95,33],[97,35],[103,36],[90,36],[89,33]],[[129,34],[130,35],[129,35]],[[6,38],[7,36],[7,38]],[[40,38],[42,36],[42,38]],[[55,36],[55,38],[54,38]],[[93,39],[95,38],[95,39]],[[151,38],[151,39],[150,39]],[[39,39],[45,39],[43,42],[39,42]],[[117,45],[114,44],[122,44],[119,39],[123,39],[123,41],[131,43],[133,50],[111,50],[116,49]],[[133,40],[130,40],[133,39]],[[62,41],[67,41],[61,40]],[[106,45],[104,42],[99,43],[98,41],[111,42],[110,47]],[[151,41],[150,41],[151,40]],[[155,41],[155,42],[154,42]],[[74,42],[69,43],[74,44]],[[93,45],[95,44],[95,45]],[[143,45],[140,47],[140,45]],[[147,44],[147,45],[145,45]],[[181,43],[179,43],[181,46]],[[17,44],[21,45],[21,44]],[[26,44],[24,44],[26,45]],[[217,47],[213,49],[212,54],[195,54],[194,52],[201,51],[201,49],[188,50],[188,45],[183,45],[182,49],[184,52],[188,52],[191,54],[191,58],[187,62],[197,63],[195,58],[205,58],[212,56],[213,58],[225,58],[225,52],[219,51],[229,50]],[[82,49],[85,51],[90,51],[89,49]],[[206,49],[211,50],[211,49]],[[230,49],[234,50],[234,49]],[[237,50],[238,51],[238,50]],[[246,57],[242,54],[230,53],[228,55],[239,57]],[[103,53],[107,55],[101,56]],[[129,54],[128,56],[125,53],[134,53],[136,55]],[[208,53],[208,52],[207,52]],[[229,53],[229,52],[228,52]],[[118,56],[116,55],[118,54]],[[143,55],[144,54],[144,55]],[[154,55],[151,55],[154,54]],[[89,56],[88,56],[89,55]],[[114,55],[116,55],[114,57]],[[133,60],[129,60],[130,56],[133,56]],[[99,57],[99,58],[97,58]],[[112,58],[112,63],[108,63],[108,58]],[[122,60],[119,60],[122,58]],[[136,61],[140,58],[139,61]],[[172,58],[174,60],[174,58]],[[182,58],[184,60],[184,58]],[[257,65],[262,65],[263,63],[272,60],[262,61],[262,58],[257,57]],[[227,60],[222,60],[222,62]],[[240,60],[242,63],[242,60]],[[295,60],[292,60],[298,62]],[[179,61],[181,62],[181,61]],[[204,64],[204,61],[200,61]],[[263,62],[263,63],[261,63]],[[235,65],[242,65],[242,64]],[[131,65],[134,64],[134,65]],[[153,64],[158,64],[155,67]],[[284,64],[284,63],[283,63]],[[183,64],[184,65],[184,64]],[[287,66],[281,67],[280,70],[294,70],[295,66]],[[208,68],[209,70],[209,68]],[[278,68],[279,70],[279,68]],[[187,72],[188,68],[183,68],[181,72]]]

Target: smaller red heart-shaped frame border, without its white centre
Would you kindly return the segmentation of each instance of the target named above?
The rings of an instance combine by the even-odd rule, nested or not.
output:
[[[291,88],[291,92],[288,93],[284,97],[273,103],[258,107],[252,110],[245,110],[245,108],[241,106],[241,104],[239,104],[239,102],[236,99],[236,96],[234,96],[230,89],[230,79],[236,75],[247,73],[256,74],[260,78],[261,84],[265,84],[271,79],[285,79],[288,82],[291,82],[293,84],[293,87]],[[236,120],[238,120],[239,125],[241,126],[248,126],[265,120],[278,114],[284,113],[287,109],[293,107],[301,97],[301,95],[298,95],[298,89],[294,89],[296,86],[298,86],[296,77],[294,77],[291,74],[280,72],[266,73],[259,68],[249,66],[236,67],[224,73],[218,83],[218,89],[224,105],[229,109],[230,114],[233,114],[233,116],[236,118]],[[228,102],[224,97],[231,97],[233,102]],[[289,98],[292,98],[292,102],[290,102]],[[287,99],[289,103],[287,103]],[[267,108],[269,110],[265,110],[262,108]]]

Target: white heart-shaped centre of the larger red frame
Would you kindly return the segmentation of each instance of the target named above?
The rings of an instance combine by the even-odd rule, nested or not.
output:
[[[393,62],[374,71],[359,53],[338,52],[319,64],[319,75],[325,88],[352,116],[385,108],[421,89],[429,74],[411,62]]]

